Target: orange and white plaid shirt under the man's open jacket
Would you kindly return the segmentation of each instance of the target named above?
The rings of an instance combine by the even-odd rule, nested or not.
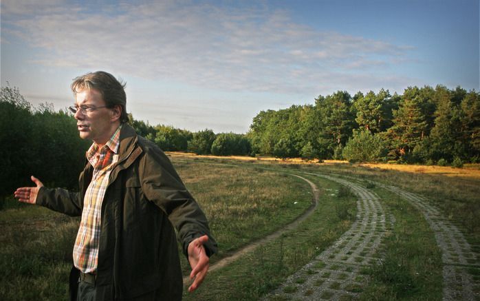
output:
[[[111,170],[118,162],[121,127],[101,149],[94,143],[87,151],[87,160],[94,167],[94,175],[85,192],[82,220],[74,245],[74,264],[83,273],[92,273],[97,269],[102,201]]]

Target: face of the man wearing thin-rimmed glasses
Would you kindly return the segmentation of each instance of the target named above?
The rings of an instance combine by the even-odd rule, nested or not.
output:
[[[105,107],[105,101],[103,100],[102,94],[95,89],[82,90],[76,94],[75,105],[76,107],[99,107],[96,110],[91,110],[91,112],[77,110],[74,114],[74,117],[77,120],[80,138],[91,139],[99,145],[107,143],[113,134],[113,112],[110,108]]]

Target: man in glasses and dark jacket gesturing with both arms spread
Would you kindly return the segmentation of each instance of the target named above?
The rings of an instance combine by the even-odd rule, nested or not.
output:
[[[82,216],[70,273],[72,300],[180,300],[175,229],[195,278],[188,291],[194,291],[217,251],[204,213],[164,153],[127,125],[122,83],[99,71],[78,76],[72,91],[75,105],[69,109],[80,137],[93,141],[80,191],[47,189],[32,176],[36,187],[21,187],[14,196]]]

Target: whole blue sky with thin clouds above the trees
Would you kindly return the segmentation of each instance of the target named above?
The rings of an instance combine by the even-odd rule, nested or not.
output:
[[[127,83],[150,125],[246,133],[338,90],[480,90],[479,0],[1,0],[1,86],[63,110],[79,75]]]

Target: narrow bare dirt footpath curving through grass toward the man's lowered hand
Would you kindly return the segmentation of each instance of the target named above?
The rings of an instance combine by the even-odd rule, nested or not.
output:
[[[312,181],[307,180],[306,178],[303,178],[303,176],[298,176],[296,174],[289,174],[289,175],[296,176],[297,178],[301,178],[302,180],[305,180],[305,182],[307,182],[310,185],[310,187],[312,187],[312,193],[313,193],[312,205],[310,205],[310,207],[307,210],[305,210],[305,212],[303,212],[303,214],[301,216],[298,216],[298,218],[296,218],[289,225],[286,225],[285,227],[283,227],[282,229],[279,229],[278,231],[274,231],[270,235],[265,236],[264,238],[261,238],[260,240],[257,240],[255,242],[252,242],[249,245],[246,245],[245,247],[239,249],[238,251],[236,251],[232,255],[230,255],[226,258],[222,258],[221,260],[215,262],[215,264],[211,264],[210,268],[208,269],[209,272],[215,271],[216,269],[220,269],[221,267],[225,267],[227,264],[230,264],[230,262],[232,262],[234,260],[237,260],[237,258],[244,255],[245,253],[248,253],[248,252],[252,251],[253,249],[259,247],[260,245],[264,245],[265,243],[270,242],[271,240],[274,240],[275,238],[279,238],[283,233],[285,233],[287,231],[290,231],[292,229],[295,229],[300,222],[303,222],[303,220],[305,220],[305,218],[307,218],[308,216],[312,215],[312,213],[314,213],[314,211],[315,211],[315,209],[318,205],[318,198],[319,198],[318,188],[316,187],[316,185],[314,183],[312,183]],[[192,280],[190,280],[190,278],[188,276],[184,277],[184,284],[188,284],[190,282],[192,282]]]

